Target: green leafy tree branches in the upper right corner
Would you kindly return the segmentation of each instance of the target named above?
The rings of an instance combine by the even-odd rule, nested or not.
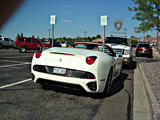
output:
[[[136,32],[147,32],[156,29],[160,32],[160,1],[159,0],[132,0],[135,4],[130,11],[135,12],[133,19],[140,21]],[[158,34],[157,34],[157,38]]]

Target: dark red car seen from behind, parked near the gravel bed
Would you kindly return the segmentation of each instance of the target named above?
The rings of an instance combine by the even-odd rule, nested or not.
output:
[[[145,56],[152,58],[152,47],[149,43],[139,43],[136,47],[136,57]]]

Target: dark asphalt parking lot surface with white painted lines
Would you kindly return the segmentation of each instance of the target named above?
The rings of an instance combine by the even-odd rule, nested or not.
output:
[[[34,52],[0,50],[1,120],[132,120],[136,62],[113,84],[111,96],[97,98],[65,88],[42,90],[31,80]]]

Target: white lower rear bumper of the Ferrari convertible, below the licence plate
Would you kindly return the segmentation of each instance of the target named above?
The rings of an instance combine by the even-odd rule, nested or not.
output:
[[[99,80],[96,79],[81,79],[81,78],[72,78],[66,76],[59,76],[47,73],[40,73],[36,71],[32,71],[33,80],[35,83],[47,82],[49,85],[54,86],[54,83],[58,83],[59,85],[69,85],[69,86],[80,86],[86,92],[89,93],[101,93],[104,91],[104,85],[99,85]],[[66,86],[65,86],[66,87]]]

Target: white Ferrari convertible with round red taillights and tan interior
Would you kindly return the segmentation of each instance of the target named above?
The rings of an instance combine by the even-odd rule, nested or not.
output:
[[[101,43],[75,42],[69,48],[53,47],[36,52],[31,72],[34,82],[82,88],[89,93],[109,94],[120,75],[122,57]]]

